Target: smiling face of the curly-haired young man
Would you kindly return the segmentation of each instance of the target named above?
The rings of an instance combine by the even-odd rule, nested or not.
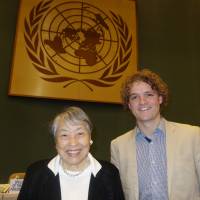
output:
[[[128,105],[138,123],[157,122],[161,103],[162,96],[152,90],[149,84],[143,81],[132,84]]]

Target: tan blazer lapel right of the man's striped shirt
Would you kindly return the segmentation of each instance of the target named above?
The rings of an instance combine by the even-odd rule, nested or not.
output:
[[[175,126],[165,120],[166,129],[166,151],[167,151],[167,175],[168,175],[168,195],[170,197],[173,166],[175,159],[176,138],[174,137]]]

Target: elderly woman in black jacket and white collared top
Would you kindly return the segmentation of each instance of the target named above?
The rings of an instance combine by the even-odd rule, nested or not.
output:
[[[52,123],[57,156],[32,164],[18,200],[124,200],[117,168],[90,153],[92,124],[78,107]]]

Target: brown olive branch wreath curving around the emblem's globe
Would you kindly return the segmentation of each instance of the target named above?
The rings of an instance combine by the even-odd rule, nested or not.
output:
[[[43,14],[50,8],[50,3],[53,0],[41,1],[37,6],[33,7],[29,13],[28,19],[24,20],[24,39],[26,43],[26,51],[32,61],[33,66],[40,73],[48,76],[41,77],[43,80],[49,82],[65,82],[64,88],[75,82],[80,82],[93,91],[90,85],[99,87],[111,87],[114,83],[122,77],[122,73],[126,70],[129,64],[129,58],[132,53],[132,36],[129,36],[129,31],[126,23],[124,23],[121,16],[114,14],[112,11],[112,19],[118,27],[120,33],[120,47],[119,56],[114,62],[102,73],[98,79],[76,79],[60,75],[54,63],[45,56],[41,49],[39,42],[39,24]]]

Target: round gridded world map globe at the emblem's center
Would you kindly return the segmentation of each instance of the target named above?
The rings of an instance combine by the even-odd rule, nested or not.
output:
[[[50,9],[42,21],[40,37],[46,54],[58,67],[80,74],[105,69],[119,48],[112,19],[99,8],[79,1]]]

